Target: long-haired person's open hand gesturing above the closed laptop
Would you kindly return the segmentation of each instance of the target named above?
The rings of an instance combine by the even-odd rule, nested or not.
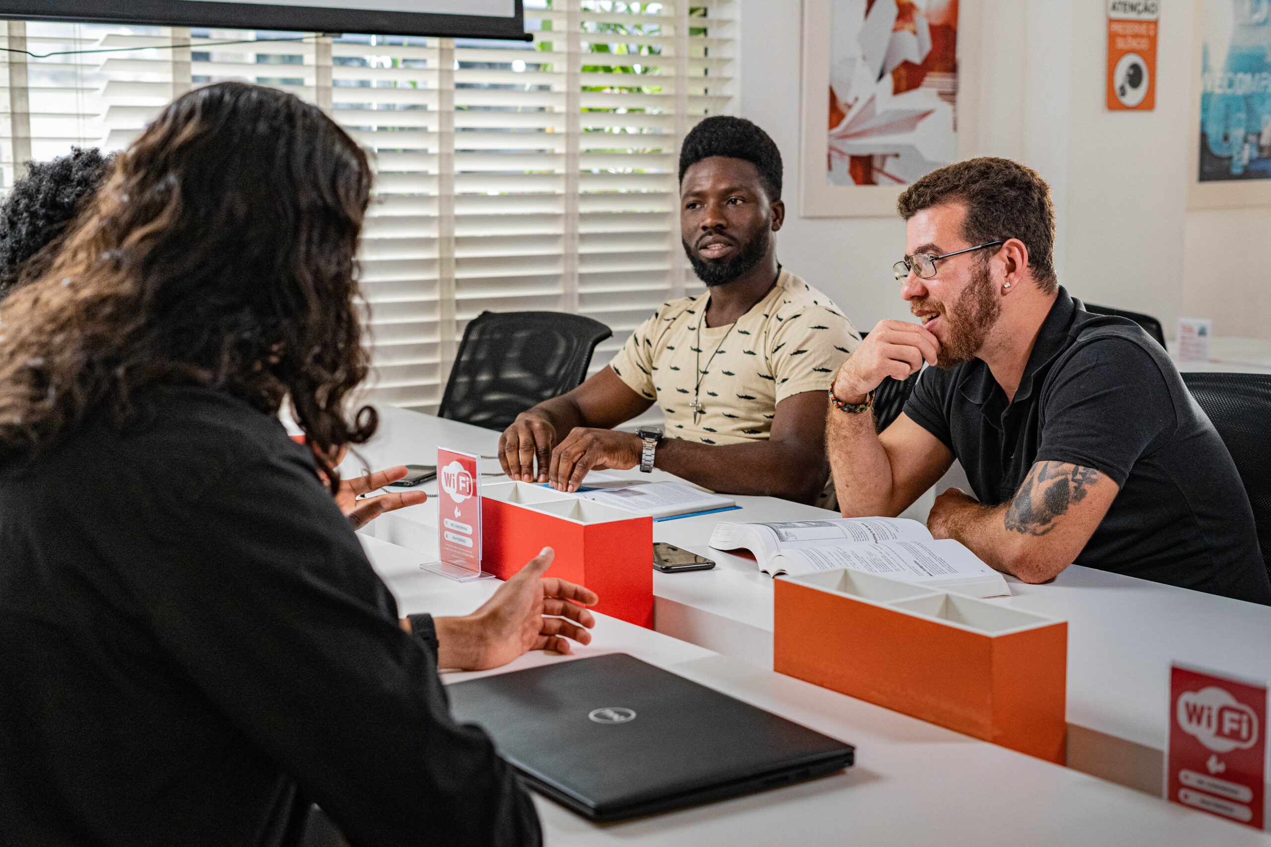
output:
[[[437,667],[487,670],[526,650],[568,654],[566,639],[590,644],[587,630],[596,618],[583,606],[595,606],[600,598],[563,579],[541,579],[553,556],[552,547],[544,547],[472,615],[433,618]]]

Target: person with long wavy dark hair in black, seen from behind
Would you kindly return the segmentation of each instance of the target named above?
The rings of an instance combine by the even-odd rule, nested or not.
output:
[[[341,519],[370,188],[316,107],[202,88],[0,302],[0,842],[287,844],[318,803],[353,844],[539,843],[437,668],[568,653],[596,597],[544,550],[399,620]]]

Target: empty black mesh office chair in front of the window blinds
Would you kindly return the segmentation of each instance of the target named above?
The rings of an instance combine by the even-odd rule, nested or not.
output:
[[[484,311],[464,330],[437,415],[503,430],[530,406],[578,387],[596,344],[613,334],[582,315]]]

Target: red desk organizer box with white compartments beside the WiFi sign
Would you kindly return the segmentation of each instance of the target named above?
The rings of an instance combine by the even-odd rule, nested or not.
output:
[[[548,577],[600,594],[592,608],[653,629],[653,519],[526,483],[482,488],[482,570],[507,579],[552,547]]]

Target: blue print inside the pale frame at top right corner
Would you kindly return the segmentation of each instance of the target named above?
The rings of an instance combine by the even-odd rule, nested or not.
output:
[[[1200,182],[1271,179],[1271,0],[1204,0]]]

